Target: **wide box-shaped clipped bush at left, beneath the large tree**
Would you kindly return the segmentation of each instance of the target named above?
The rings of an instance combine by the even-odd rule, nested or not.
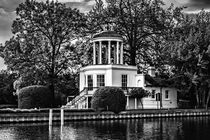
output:
[[[47,86],[28,86],[20,89],[18,108],[47,108],[52,106],[52,93]]]

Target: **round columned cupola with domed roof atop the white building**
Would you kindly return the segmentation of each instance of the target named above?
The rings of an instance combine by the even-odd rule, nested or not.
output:
[[[115,31],[95,34],[93,42],[93,64],[123,64],[123,38]]]

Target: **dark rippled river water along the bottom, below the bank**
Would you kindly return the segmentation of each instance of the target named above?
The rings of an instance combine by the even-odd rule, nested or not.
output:
[[[210,117],[1,124],[0,140],[208,140]]]

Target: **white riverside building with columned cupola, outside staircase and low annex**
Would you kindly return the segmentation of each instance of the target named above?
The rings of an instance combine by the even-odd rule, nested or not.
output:
[[[120,87],[127,97],[127,109],[141,109],[137,98],[129,97],[132,87],[142,87],[151,92],[143,98],[144,109],[177,108],[177,91],[168,87],[156,87],[147,81],[145,75],[137,74],[137,67],[123,62],[123,38],[114,31],[103,31],[93,36],[93,64],[80,69],[80,94],[68,102],[70,108],[91,107],[94,91],[102,86]],[[153,71],[150,71],[152,76]],[[161,93],[162,100],[157,100]]]

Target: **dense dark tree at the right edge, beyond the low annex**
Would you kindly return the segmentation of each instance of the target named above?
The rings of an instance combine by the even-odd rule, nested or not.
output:
[[[194,93],[198,107],[210,98],[210,13],[185,16],[171,34],[171,66],[181,89]],[[176,78],[175,78],[176,79]],[[184,85],[184,86],[182,86]]]

